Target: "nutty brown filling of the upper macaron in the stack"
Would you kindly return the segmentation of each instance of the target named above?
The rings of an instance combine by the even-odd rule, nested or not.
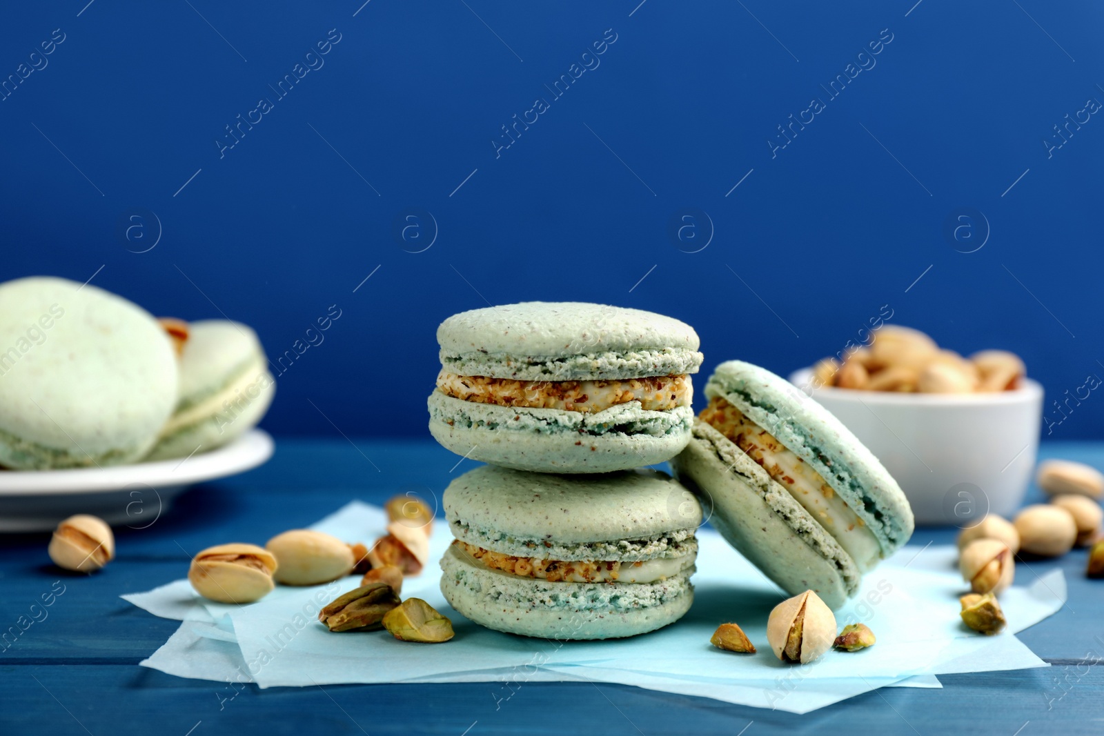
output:
[[[479,404],[597,413],[628,402],[666,412],[689,406],[693,387],[686,374],[605,381],[514,381],[442,371],[437,388],[454,398]]]

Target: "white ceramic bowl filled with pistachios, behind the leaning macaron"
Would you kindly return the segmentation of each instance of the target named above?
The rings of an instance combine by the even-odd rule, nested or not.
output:
[[[810,369],[789,376],[809,385]],[[917,524],[1010,518],[1023,501],[1042,426],[1042,386],[992,394],[902,394],[821,387],[835,414],[896,479]]]

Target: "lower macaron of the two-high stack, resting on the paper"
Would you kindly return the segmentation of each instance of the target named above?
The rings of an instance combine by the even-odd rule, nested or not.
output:
[[[554,476],[481,466],[444,495],[440,590],[490,629],[630,637],[690,608],[701,506],[654,470]]]

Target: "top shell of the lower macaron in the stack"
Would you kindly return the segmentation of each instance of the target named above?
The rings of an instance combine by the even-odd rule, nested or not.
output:
[[[550,559],[679,556],[697,545],[672,548],[665,540],[689,540],[702,521],[690,491],[645,469],[555,476],[482,466],[449,483],[443,503],[457,538]]]

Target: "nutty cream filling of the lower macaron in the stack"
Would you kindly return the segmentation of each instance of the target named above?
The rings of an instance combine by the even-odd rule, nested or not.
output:
[[[635,563],[620,561],[555,561],[538,557],[514,557],[491,552],[456,540],[457,552],[480,567],[497,569],[521,577],[541,578],[552,583],[659,583],[673,577],[693,565],[697,554],[681,557],[645,559]]]

